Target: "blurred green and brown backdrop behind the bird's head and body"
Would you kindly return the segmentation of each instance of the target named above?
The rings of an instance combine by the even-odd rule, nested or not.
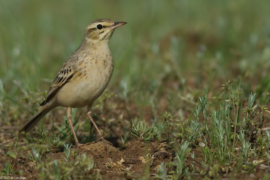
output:
[[[0,1],[0,119],[9,124],[25,111],[19,87],[49,89],[99,18],[128,23],[109,44],[115,68],[107,88],[126,105],[177,112],[187,106],[179,97],[196,101],[202,87],[217,95],[241,75],[243,91],[260,96],[269,90],[269,7],[267,0]]]

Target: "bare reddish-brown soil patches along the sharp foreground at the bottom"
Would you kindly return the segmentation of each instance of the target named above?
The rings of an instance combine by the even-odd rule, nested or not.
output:
[[[238,145],[241,145],[238,142]],[[130,140],[127,144],[126,149],[118,150],[117,148],[106,145],[107,152],[105,152],[105,146],[103,142],[97,142],[92,145],[83,146],[81,149],[73,148],[71,151],[77,151],[79,154],[86,154],[89,157],[92,157],[96,163],[96,169],[94,172],[99,171],[101,179],[144,179],[145,173],[148,172],[149,179],[155,179],[154,175],[158,173],[158,168],[162,162],[169,162],[173,160],[174,152],[168,149],[165,142],[141,142],[139,140]],[[203,162],[204,155],[200,148],[194,148],[192,152],[195,153],[197,162]],[[12,157],[7,156],[6,159],[9,164],[12,164],[12,168],[15,171],[23,171],[22,177],[26,179],[39,179],[38,174],[40,173],[37,169],[37,163],[33,163],[32,160],[28,157],[27,154],[21,154],[20,157],[15,160]],[[64,161],[65,154],[64,152],[58,153],[48,153],[45,157],[42,157],[42,160],[47,162],[47,159],[50,161],[61,160]],[[70,157],[71,160],[71,157]],[[255,160],[253,156],[250,156],[249,162]],[[187,158],[185,165],[191,167],[193,160]],[[262,168],[261,166],[255,166],[253,172],[235,171],[235,165],[239,163],[236,160],[233,160],[231,164],[224,167],[220,167],[219,170],[219,179],[243,179],[247,180],[261,179],[269,169]],[[211,165],[209,165],[210,167]],[[209,167],[200,167],[195,166],[195,173],[192,174],[194,179],[200,180],[204,179],[205,176],[209,177]],[[51,167],[53,171],[53,166]],[[2,168],[0,168],[1,170]],[[204,174],[200,175],[200,171],[204,170]],[[169,169],[168,169],[169,171]],[[209,177],[211,178],[211,176]]]

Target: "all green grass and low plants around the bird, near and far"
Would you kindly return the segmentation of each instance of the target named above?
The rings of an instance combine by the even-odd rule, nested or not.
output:
[[[5,130],[0,142],[16,139],[17,130],[39,109],[87,24],[110,18],[128,24],[117,28],[110,41],[114,73],[93,108],[97,124],[105,124],[102,133],[113,136],[115,127],[123,130],[120,149],[131,133],[146,142],[165,139],[175,158],[160,166],[159,179],[192,178],[197,172],[205,179],[220,178],[223,171],[252,173],[253,160],[270,158],[269,131],[257,132],[269,125],[269,7],[266,0],[1,1],[0,129]],[[73,121],[86,118],[85,111],[74,110]],[[41,122],[31,136],[19,140],[23,151],[33,154],[35,147],[42,156],[56,148],[69,154],[64,144],[74,140],[65,109],[53,110],[44,120],[60,123],[51,125],[51,132]],[[96,139],[89,122],[78,121],[74,128],[80,130],[80,142]],[[0,157],[20,152],[14,140],[1,145]],[[41,173],[55,168],[47,178],[61,179],[63,162],[38,163],[43,164]],[[66,163],[71,167],[77,161]],[[99,177],[90,165],[93,177]]]

